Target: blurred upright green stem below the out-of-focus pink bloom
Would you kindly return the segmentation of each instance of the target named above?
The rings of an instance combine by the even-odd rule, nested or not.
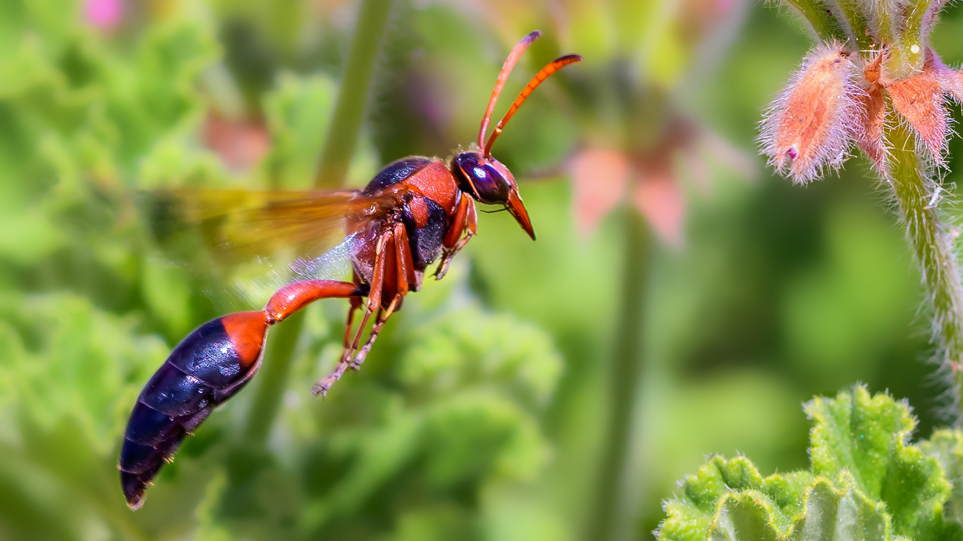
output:
[[[609,423],[602,448],[597,495],[589,517],[587,538],[608,541],[623,537],[632,527],[632,509],[627,508],[626,478],[633,413],[641,388],[643,296],[648,283],[652,239],[648,226],[634,208],[625,212],[625,262],[622,271],[621,306],[615,327],[607,396]]]

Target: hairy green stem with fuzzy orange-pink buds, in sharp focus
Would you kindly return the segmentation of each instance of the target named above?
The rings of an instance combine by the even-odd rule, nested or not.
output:
[[[762,124],[769,165],[794,183],[839,169],[855,143],[893,199],[923,270],[933,343],[963,407],[963,282],[957,233],[939,181],[950,138],[947,100],[963,100],[963,72],[930,46],[945,2],[787,0],[818,43]]]

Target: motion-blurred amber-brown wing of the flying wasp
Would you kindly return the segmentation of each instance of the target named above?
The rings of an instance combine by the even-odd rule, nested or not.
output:
[[[289,250],[315,257],[346,234],[344,220],[393,205],[353,190],[285,192],[179,188],[142,193],[150,230],[174,260],[229,267]]]

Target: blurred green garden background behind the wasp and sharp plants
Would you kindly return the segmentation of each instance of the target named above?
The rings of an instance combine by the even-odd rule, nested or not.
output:
[[[814,394],[889,389],[928,436],[947,388],[869,165],[794,187],[755,155],[809,47],[782,11],[0,0],[0,539],[652,539],[708,453],[804,467]],[[117,454],[144,382],[196,325],[261,302],[251,268],[172,256],[137,191],[361,186],[444,158],[536,28],[496,118],[543,64],[585,57],[493,149],[538,241],[481,214],[326,399],[310,388],[347,303],[279,325],[129,511]],[[948,64],[961,33],[954,6]]]

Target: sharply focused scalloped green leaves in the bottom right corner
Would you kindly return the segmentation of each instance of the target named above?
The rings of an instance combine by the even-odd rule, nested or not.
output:
[[[665,502],[659,538],[673,541],[961,539],[963,432],[909,442],[905,401],[863,386],[805,405],[811,472],[763,478],[739,456],[712,456]],[[944,522],[944,509],[952,520]]]

